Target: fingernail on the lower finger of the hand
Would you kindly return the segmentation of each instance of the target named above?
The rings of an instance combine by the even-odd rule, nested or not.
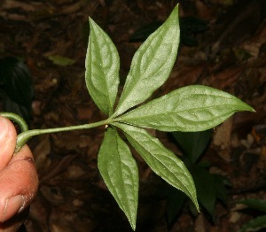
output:
[[[10,197],[5,201],[4,211],[1,216],[1,222],[12,218],[13,215],[20,213],[25,206],[25,199],[21,195]]]

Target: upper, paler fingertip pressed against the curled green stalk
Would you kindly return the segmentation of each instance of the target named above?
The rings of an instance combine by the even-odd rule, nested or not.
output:
[[[17,133],[12,122],[0,116],[0,171],[12,159]]]

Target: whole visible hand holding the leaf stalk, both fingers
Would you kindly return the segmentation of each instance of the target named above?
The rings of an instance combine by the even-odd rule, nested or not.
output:
[[[17,231],[38,189],[33,155],[27,145],[14,156],[17,133],[0,116],[0,231]]]

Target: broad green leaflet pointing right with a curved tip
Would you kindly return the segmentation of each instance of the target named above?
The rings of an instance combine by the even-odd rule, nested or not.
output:
[[[161,131],[200,131],[214,128],[240,111],[254,109],[221,90],[192,85],[154,99],[117,120]]]

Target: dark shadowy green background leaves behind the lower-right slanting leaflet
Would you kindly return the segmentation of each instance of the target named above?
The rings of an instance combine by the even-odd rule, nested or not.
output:
[[[212,129],[200,132],[175,131],[171,135],[184,153],[184,165],[192,174],[200,206],[215,221],[215,204],[217,200],[220,200],[223,205],[227,204],[226,186],[230,185],[230,182],[222,175],[210,174],[207,170],[209,164],[199,161],[211,141],[212,131]],[[170,191],[167,204],[169,225],[180,213],[187,199],[184,193],[179,190],[172,189]],[[190,205],[190,209],[192,213],[197,213],[192,205]]]

